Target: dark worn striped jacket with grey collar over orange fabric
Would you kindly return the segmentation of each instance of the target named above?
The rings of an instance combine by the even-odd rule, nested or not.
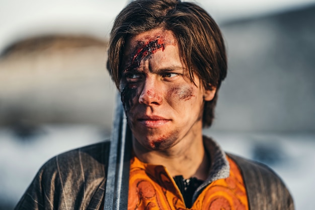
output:
[[[228,176],[225,153],[204,138],[212,166],[209,178],[193,197],[214,180]],[[109,142],[58,155],[37,173],[15,210],[100,209],[105,194]],[[240,167],[252,210],[294,209],[292,198],[281,179],[267,166],[227,154]]]

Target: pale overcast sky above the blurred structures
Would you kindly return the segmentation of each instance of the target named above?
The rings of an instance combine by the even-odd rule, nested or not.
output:
[[[126,0],[0,0],[0,51],[14,40],[50,32],[106,37]],[[196,0],[217,22],[315,4],[315,0]]]

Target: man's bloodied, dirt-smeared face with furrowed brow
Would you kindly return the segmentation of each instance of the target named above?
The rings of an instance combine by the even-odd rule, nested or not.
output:
[[[193,141],[202,131],[204,90],[189,72],[171,31],[150,30],[129,38],[120,81],[121,99],[137,145],[144,150],[167,150]]]

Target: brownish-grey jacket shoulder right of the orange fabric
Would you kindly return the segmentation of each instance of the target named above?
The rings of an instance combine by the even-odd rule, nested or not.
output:
[[[227,154],[240,168],[252,209],[294,209],[282,179],[265,164]]]

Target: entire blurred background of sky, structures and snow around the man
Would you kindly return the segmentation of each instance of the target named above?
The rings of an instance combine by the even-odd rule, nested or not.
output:
[[[315,194],[315,0],[198,0],[222,29],[228,75],[204,133],[263,162],[296,209]],[[109,138],[115,86],[106,69],[125,0],[0,0],[0,209],[39,167]]]

